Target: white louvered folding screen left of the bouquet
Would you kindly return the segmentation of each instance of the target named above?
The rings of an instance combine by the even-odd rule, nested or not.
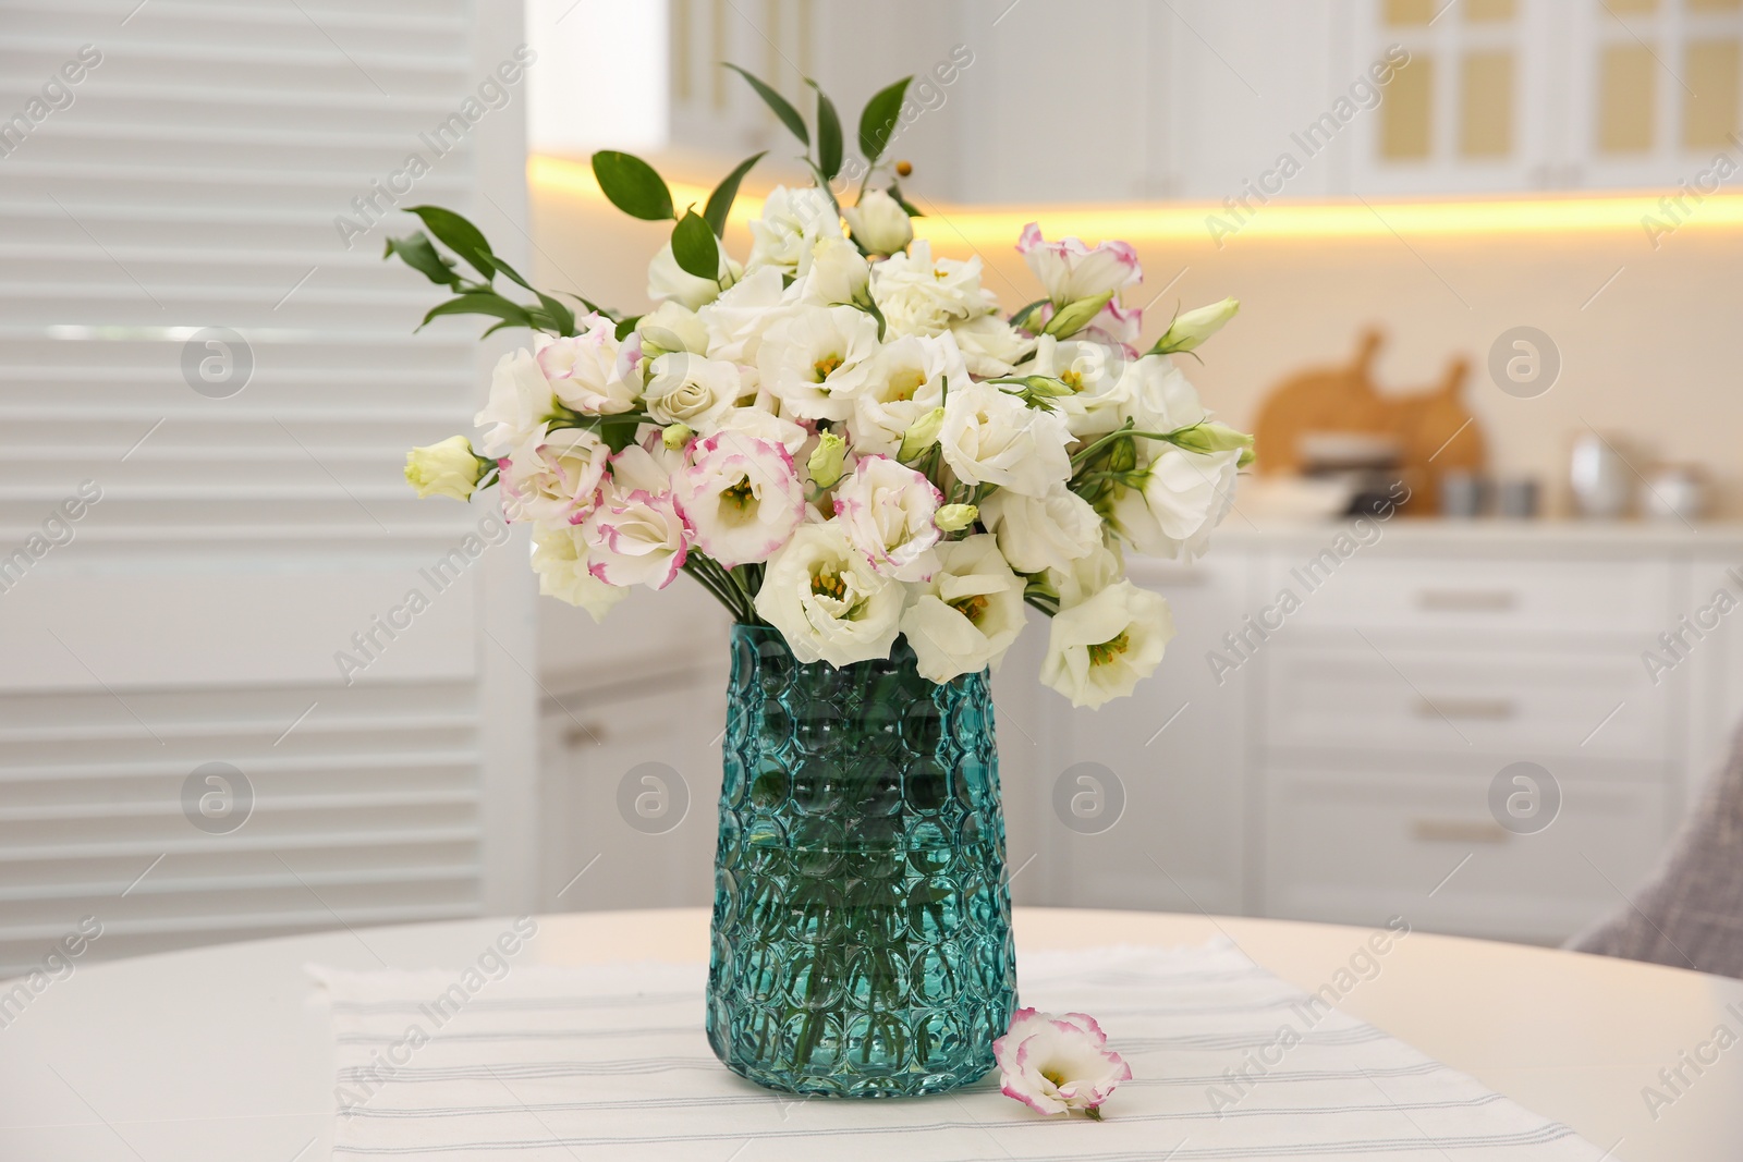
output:
[[[519,21],[0,5],[0,974],[87,915],[113,956],[528,897],[525,542],[399,479],[469,429],[481,326],[413,336],[378,193],[521,258]]]

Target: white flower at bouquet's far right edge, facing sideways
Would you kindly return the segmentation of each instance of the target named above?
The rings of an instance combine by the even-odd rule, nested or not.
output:
[[[1138,552],[1190,561],[1204,554],[1211,530],[1234,505],[1241,451],[1163,448],[1143,469],[1142,491],[1114,490],[1109,523]]]

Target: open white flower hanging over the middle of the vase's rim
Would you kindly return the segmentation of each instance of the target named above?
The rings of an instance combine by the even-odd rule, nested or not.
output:
[[[903,603],[901,582],[878,577],[840,521],[800,524],[756,592],[793,657],[837,667],[889,657]]]

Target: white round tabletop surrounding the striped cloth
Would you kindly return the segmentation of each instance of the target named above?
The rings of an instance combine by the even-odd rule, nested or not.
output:
[[[305,963],[458,969],[502,920],[420,923],[80,963],[0,1028],[0,1159],[312,1162],[328,1157],[333,1047]],[[1743,1159],[1743,1044],[1675,1096],[1661,1070],[1743,1035],[1743,983],[1579,953],[1412,932],[1168,913],[1016,909],[1021,949],[1229,936],[1307,990],[1358,972],[1342,1009],[1638,1162]],[[701,962],[702,909],[539,918],[516,963]],[[1372,965],[1372,967],[1370,967]],[[1351,977],[1342,977],[1349,981]],[[1708,1056],[1712,1051],[1705,1051]],[[1645,1087],[1670,1103],[1649,1106]]]

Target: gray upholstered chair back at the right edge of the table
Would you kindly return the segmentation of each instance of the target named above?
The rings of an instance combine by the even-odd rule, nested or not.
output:
[[[1743,977],[1743,730],[1652,880],[1567,948]]]

